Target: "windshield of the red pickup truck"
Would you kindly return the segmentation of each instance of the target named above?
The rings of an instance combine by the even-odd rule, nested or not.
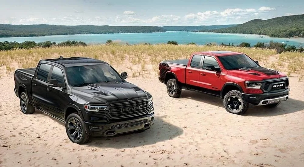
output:
[[[258,67],[259,65],[244,54],[218,56],[226,70]]]

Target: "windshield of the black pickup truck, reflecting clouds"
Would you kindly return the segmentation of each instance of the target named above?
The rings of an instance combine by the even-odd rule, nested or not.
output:
[[[66,73],[69,84],[74,87],[100,82],[123,81],[108,64],[66,67]]]

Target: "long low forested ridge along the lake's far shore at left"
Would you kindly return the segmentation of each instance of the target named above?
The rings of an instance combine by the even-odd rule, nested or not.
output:
[[[108,34],[166,32],[181,30],[200,30],[226,28],[235,25],[221,26],[57,26],[57,25],[10,25],[0,24],[0,37],[72,35],[72,34]]]

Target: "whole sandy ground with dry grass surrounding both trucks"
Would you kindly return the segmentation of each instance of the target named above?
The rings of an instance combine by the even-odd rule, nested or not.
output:
[[[167,95],[157,80],[161,60],[194,51],[232,50],[290,76],[290,99],[277,108],[251,106],[245,115],[225,111],[220,99],[183,90]],[[13,92],[13,72],[40,59],[84,56],[126,71],[129,82],[154,97],[156,122],[143,133],[71,143],[64,125],[35,111],[24,115]],[[303,53],[196,45],[97,45],[0,52],[0,166],[282,166],[304,164]]]

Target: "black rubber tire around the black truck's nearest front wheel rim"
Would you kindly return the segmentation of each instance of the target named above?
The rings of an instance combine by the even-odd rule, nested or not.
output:
[[[81,129],[81,132],[82,135],[81,135],[81,138],[79,140],[75,140],[74,138],[72,138],[72,136],[70,135],[69,133],[69,124],[72,123],[70,122],[71,120],[75,120],[77,121],[76,124],[78,125],[81,125],[80,128],[78,128],[79,130]],[[79,127],[79,126],[78,126]],[[71,128],[72,129],[72,128]],[[85,131],[85,124],[84,122],[82,121],[82,119],[80,118],[79,114],[76,114],[76,113],[72,113],[70,115],[67,116],[67,119],[65,121],[65,131],[67,133],[67,137],[70,139],[70,141],[72,141],[73,143],[77,143],[79,145],[81,144],[85,144],[87,143],[89,140],[90,140],[90,136],[86,133]],[[71,130],[73,131],[73,129]],[[79,133],[76,132],[75,135],[78,135]],[[77,139],[77,138],[76,138]]]

